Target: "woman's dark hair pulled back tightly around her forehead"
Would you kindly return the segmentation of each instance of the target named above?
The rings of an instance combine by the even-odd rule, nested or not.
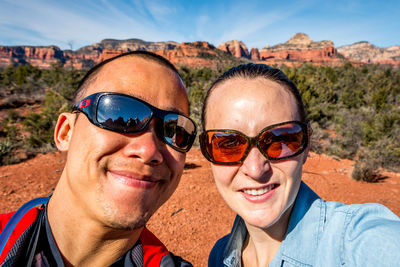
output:
[[[203,109],[201,111],[201,124],[203,126],[203,129],[205,129],[207,102],[213,89],[218,85],[222,84],[223,82],[233,78],[248,78],[248,79],[264,78],[282,85],[283,87],[288,89],[289,92],[294,96],[300,120],[304,122],[307,121],[303,99],[301,98],[297,86],[291,80],[289,80],[289,78],[280,69],[275,69],[265,64],[248,63],[227,70],[211,84],[204,99]]]

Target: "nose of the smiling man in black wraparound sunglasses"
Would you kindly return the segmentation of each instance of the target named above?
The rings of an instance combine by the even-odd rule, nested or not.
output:
[[[156,128],[156,123],[152,120],[143,132],[127,135],[130,140],[123,150],[124,155],[140,159],[145,164],[161,164],[166,145],[159,139]]]

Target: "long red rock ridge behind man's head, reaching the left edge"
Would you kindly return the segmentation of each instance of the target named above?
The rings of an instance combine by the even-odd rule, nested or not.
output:
[[[229,53],[216,49],[208,42],[145,42],[140,39],[112,40],[62,51],[56,46],[0,46],[0,67],[30,63],[41,68],[60,63],[76,69],[87,68],[109,57],[127,51],[152,51],[168,58],[173,64],[191,67],[217,67],[224,62],[237,61]]]

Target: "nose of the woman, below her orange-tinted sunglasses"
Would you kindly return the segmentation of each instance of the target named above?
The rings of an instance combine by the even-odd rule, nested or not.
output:
[[[265,182],[270,178],[270,161],[257,147],[253,147],[243,162],[242,172],[254,180]]]

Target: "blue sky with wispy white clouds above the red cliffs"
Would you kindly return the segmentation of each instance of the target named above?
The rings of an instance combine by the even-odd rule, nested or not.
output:
[[[400,45],[399,0],[0,0],[0,45],[76,50],[106,38],[145,41],[241,40],[250,49],[297,32],[336,47]]]

